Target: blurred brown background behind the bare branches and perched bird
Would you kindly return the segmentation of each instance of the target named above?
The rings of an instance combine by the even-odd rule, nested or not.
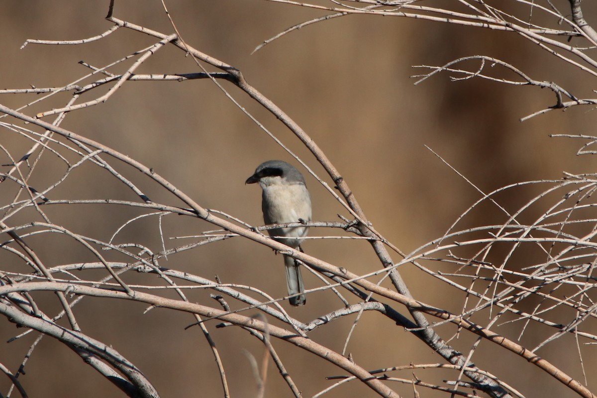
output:
[[[555,3],[561,10],[568,4],[566,1]],[[154,42],[148,36],[120,29],[90,44],[29,44],[19,50],[29,38],[81,39],[103,32],[112,26],[103,19],[108,2],[30,0],[4,1],[2,5],[2,88],[65,85],[87,73],[78,64],[79,60],[104,66]],[[596,115],[589,107],[553,111],[521,123],[519,118],[555,103],[554,95],[534,87],[512,87],[481,79],[451,82],[445,73],[417,86],[413,85],[415,79],[409,77],[421,72],[411,67],[415,64],[442,65],[458,57],[482,54],[512,63],[534,79],[556,81],[578,97],[594,96],[590,91],[594,85],[587,80],[589,75],[512,33],[407,18],[349,16],[292,32],[251,55],[264,40],[322,14],[260,0],[186,0],[170,1],[167,5],[186,42],[240,69],[251,84],[301,125],[340,170],[376,229],[405,252],[441,236],[456,217],[479,198],[475,189],[424,145],[485,192],[518,181],[560,178],[562,171],[593,171],[594,159],[575,156],[580,141],[548,137],[557,133],[595,134]],[[596,5],[583,2],[583,7],[589,23],[597,24]],[[115,16],[161,32],[172,32],[159,1],[118,1]],[[534,17],[541,16],[537,13]],[[122,72],[125,67],[116,66],[111,70]],[[190,57],[167,47],[159,50],[137,73],[198,71]],[[223,86],[326,179],[321,166],[275,118],[233,85],[223,82]],[[86,94],[84,99],[90,100],[103,92],[101,90]],[[0,103],[18,107],[35,98],[35,95],[4,94]],[[24,112],[34,115],[41,110],[64,106],[69,94],[54,98]],[[260,191],[256,186],[244,186],[245,178],[267,159],[296,163],[210,81],[130,82],[106,103],[69,114],[62,126],[152,166],[206,208],[219,209],[254,225],[262,221]],[[0,131],[0,143],[10,147],[14,156],[21,156],[29,146],[26,140],[4,130]],[[7,162],[3,159],[3,163]],[[46,186],[47,181],[56,180],[63,170],[56,164],[48,163],[44,173],[34,174],[31,184]],[[130,169],[126,171],[139,178]],[[53,198],[135,199],[106,173],[91,167],[71,177],[54,190]],[[140,178],[139,184],[147,189],[152,199],[165,198],[147,179]],[[313,196],[315,220],[336,221],[338,213],[346,215],[315,179],[307,177],[307,185]],[[8,189],[5,187],[7,183],[0,186],[3,199],[1,192]],[[11,189],[14,192],[14,187]],[[504,198],[501,205],[514,211],[525,200],[528,198]],[[31,214],[9,221],[11,225],[24,223]],[[109,239],[116,228],[138,213],[107,206],[90,212],[88,208],[70,206],[48,209],[48,214],[56,224],[83,235]],[[491,220],[488,215],[487,220],[475,222],[486,224],[503,220]],[[176,236],[211,229],[197,220],[170,218],[164,223],[165,229],[174,230],[176,225],[173,232]],[[329,233],[317,231],[314,235]],[[156,220],[145,219],[132,224],[123,231],[119,242],[132,239],[159,251]],[[65,252],[59,237],[32,241],[36,249],[44,253],[48,265],[88,260],[85,251]],[[170,246],[176,244],[181,242],[167,242]],[[355,273],[378,267],[370,246],[364,242],[317,240],[307,242],[305,249]],[[0,259],[11,269],[28,272],[19,268],[21,264],[6,253],[0,253]],[[281,261],[281,257],[275,257],[267,248],[230,239],[175,256],[161,265],[206,277],[218,274],[223,282],[254,285],[279,296],[285,293],[282,268],[270,271],[267,277],[261,270],[269,270],[278,263],[281,266]],[[460,308],[460,299],[446,304],[444,286],[410,267],[402,267],[401,271],[415,297],[430,304]],[[310,287],[318,283],[315,277],[307,276]],[[192,300],[211,303],[205,292],[190,296]],[[48,295],[48,298],[55,301],[54,296]],[[309,296],[306,307],[288,310],[299,319],[311,320],[337,306],[338,302],[327,294],[316,293]],[[48,304],[48,313],[53,313],[51,308]],[[75,314],[84,331],[112,344],[136,363],[155,383],[162,397],[221,396],[207,343],[197,328],[183,330],[193,322],[192,317],[159,309],[143,314],[143,310],[143,306],[137,304],[84,300],[76,307]],[[312,337],[339,351],[351,323],[352,319],[340,320],[329,329],[313,332]],[[261,345],[238,329],[216,330],[213,325],[209,324],[210,330],[216,344],[220,344],[233,396],[254,396],[255,382],[244,350],[260,357]],[[512,329],[515,334],[518,330]],[[4,321],[0,327],[0,337],[4,340],[20,332]],[[30,335],[0,345],[1,362],[14,370],[33,338]],[[466,350],[471,342],[470,337],[463,337],[454,344]],[[546,350],[541,354],[571,366],[567,368],[570,374],[581,378],[578,358],[570,354],[573,340],[567,344],[568,350]],[[494,374],[510,384],[520,387],[529,378],[540,376],[539,371],[512,354],[497,360],[493,356],[498,352],[496,348],[488,343],[482,345],[485,351],[473,359],[481,367],[491,366]],[[277,347],[304,396],[312,396],[330,384],[323,379],[324,375],[343,374],[323,360],[312,362],[310,356],[298,349],[285,344]],[[410,362],[439,362],[439,357],[414,337],[373,314],[365,314],[348,351],[367,369]],[[585,360],[587,366],[595,365],[589,358]],[[525,372],[516,371],[517,366],[524,366]],[[75,354],[50,338],[45,338],[34,351],[26,371],[21,382],[33,397],[119,394],[84,366]],[[433,377],[438,374],[434,373]],[[421,372],[421,375],[427,377],[426,373]],[[455,376],[450,373],[445,377]],[[267,383],[267,396],[290,396],[273,366]],[[6,385],[7,380],[0,378],[2,392],[7,391]],[[405,396],[412,394],[411,387],[392,386]],[[429,391],[423,392],[424,396],[435,396]],[[573,396],[570,390],[549,379],[522,392],[527,397]],[[353,382],[328,396],[362,397],[373,396],[373,393]]]

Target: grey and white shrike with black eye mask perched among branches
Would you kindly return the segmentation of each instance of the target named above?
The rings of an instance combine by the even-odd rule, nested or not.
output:
[[[311,197],[304,177],[293,165],[282,161],[267,161],[257,166],[255,173],[247,178],[245,184],[259,183],[263,189],[261,210],[266,224],[296,223],[311,221]],[[276,228],[267,230],[278,242],[293,249],[303,251],[300,243],[309,227]],[[284,255],[288,294],[304,292],[303,277],[294,258]],[[306,303],[304,294],[290,298],[293,306]]]

